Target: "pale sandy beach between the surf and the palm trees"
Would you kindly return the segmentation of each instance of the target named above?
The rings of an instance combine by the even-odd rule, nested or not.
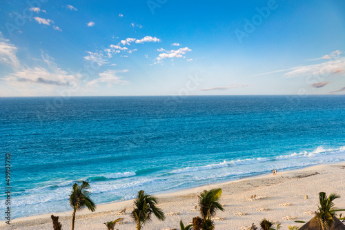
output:
[[[239,227],[248,226],[252,223],[258,226],[259,221],[263,218],[281,222],[282,229],[288,229],[290,225],[302,226],[302,224],[295,223],[294,220],[284,220],[283,217],[294,216],[296,217],[295,220],[310,220],[313,215],[305,212],[317,209],[319,191],[324,191],[326,194],[339,194],[342,198],[335,200],[335,205],[339,208],[345,207],[344,173],[345,163],[317,165],[295,171],[278,171],[277,176],[269,174],[157,195],[161,209],[166,213],[177,212],[179,214],[166,216],[164,222],[153,218],[153,221],[146,224],[144,229],[158,230],[166,227],[179,229],[180,220],[187,224],[192,221],[193,217],[199,215],[198,211],[191,211],[197,205],[197,194],[204,189],[217,187],[223,189],[221,203],[225,209],[224,212],[219,211],[217,216],[225,219],[215,220],[215,229],[239,229]],[[267,196],[267,198],[248,200],[253,195]],[[306,195],[308,199],[305,199]],[[284,202],[291,205],[279,205]],[[125,207],[126,214],[115,214]],[[268,208],[268,210],[260,211],[258,210],[260,208]],[[135,229],[135,224],[128,214],[130,211],[132,211],[132,200],[99,205],[94,213],[84,209],[77,213],[75,229],[106,229],[103,223],[117,218],[124,218],[124,221],[127,222],[117,225],[115,229]],[[239,211],[248,214],[236,216],[234,213]],[[59,220],[63,229],[70,229],[72,211],[53,214],[60,216]],[[0,229],[52,229],[50,215],[18,218],[12,220],[10,226],[1,222]]]

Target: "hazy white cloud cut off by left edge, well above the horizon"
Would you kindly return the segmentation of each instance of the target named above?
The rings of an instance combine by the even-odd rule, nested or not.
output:
[[[0,62],[6,63],[11,67],[19,67],[16,53],[17,47],[9,43],[9,40],[3,39],[0,32]]]

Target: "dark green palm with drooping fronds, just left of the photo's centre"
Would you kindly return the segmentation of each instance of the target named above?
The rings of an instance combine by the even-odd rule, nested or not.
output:
[[[146,222],[151,220],[152,213],[159,220],[165,220],[164,212],[156,205],[157,198],[145,194],[143,190],[138,192],[137,198],[134,200],[134,210],[132,211],[132,218],[137,224],[137,230],[140,230]]]

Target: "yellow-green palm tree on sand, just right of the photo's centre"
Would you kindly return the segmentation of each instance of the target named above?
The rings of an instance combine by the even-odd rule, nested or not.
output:
[[[223,206],[219,203],[221,189],[204,190],[199,196],[199,206],[201,218],[210,220],[215,216],[217,210],[224,211]]]

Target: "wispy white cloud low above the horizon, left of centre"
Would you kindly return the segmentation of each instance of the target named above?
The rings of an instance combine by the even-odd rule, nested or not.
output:
[[[108,87],[112,85],[120,84],[120,83],[128,83],[128,81],[122,80],[121,76],[117,76],[117,73],[120,72],[128,72],[128,70],[107,70],[103,73],[99,73],[99,78],[89,81],[86,83],[88,87],[98,87],[99,83],[107,83]]]

